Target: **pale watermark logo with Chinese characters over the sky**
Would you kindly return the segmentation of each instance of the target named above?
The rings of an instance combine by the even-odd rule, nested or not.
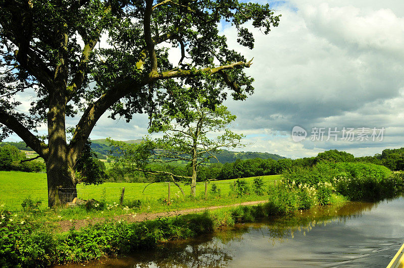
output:
[[[384,127],[382,128],[318,128],[311,130],[311,141],[383,141]],[[306,139],[308,132],[299,126],[292,129],[292,139],[295,142]]]

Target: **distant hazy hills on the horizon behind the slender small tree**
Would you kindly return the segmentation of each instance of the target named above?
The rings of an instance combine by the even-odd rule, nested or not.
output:
[[[137,140],[124,140],[124,142],[127,143],[139,143],[141,142],[141,139]],[[91,140],[91,149],[97,154],[99,158],[106,158],[106,156],[109,154],[110,150],[112,149],[111,146],[108,145],[108,142],[106,139],[97,139],[97,140]],[[262,159],[283,159],[285,157],[280,156],[279,154],[273,154],[273,153],[268,153],[268,152],[235,152],[235,151],[229,151],[229,150],[223,150],[222,152],[216,154],[216,157],[218,157],[219,162],[224,164],[228,162],[235,162],[236,159],[254,159],[254,158],[262,158]],[[213,162],[213,161],[212,161]],[[216,160],[215,160],[216,162]]]

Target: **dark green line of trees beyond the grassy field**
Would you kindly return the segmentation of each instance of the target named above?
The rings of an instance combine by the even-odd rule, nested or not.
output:
[[[25,153],[21,150],[29,149],[24,142],[2,142],[0,144],[0,170],[4,171],[25,171],[25,172],[43,172],[45,166],[41,160],[32,160],[30,162],[20,163],[27,159]],[[92,159],[100,170],[105,171],[108,176],[104,177],[106,181],[147,181],[150,178],[144,176],[142,172],[127,172],[118,168],[106,170],[105,164],[96,157]],[[282,174],[285,171],[293,171],[298,168],[310,168],[319,162],[361,162],[382,165],[392,171],[404,170],[404,147],[399,149],[384,149],[381,154],[374,156],[355,157],[345,151],[328,150],[319,153],[317,156],[304,157],[297,159],[236,159],[232,163],[210,163],[201,166],[198,171],[197,181],[205,180],[225,180],[245,177],[265,176]],[[154,164],[151,169],[156,171],[165,171],[182,176],[190,176],[189,166],[184,164]],[[150,175],[153,177],[153,175]]]

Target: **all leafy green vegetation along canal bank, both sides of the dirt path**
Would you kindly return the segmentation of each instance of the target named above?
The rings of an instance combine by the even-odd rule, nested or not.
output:
[[[234,202],[254,196],[266,198],[268,203],[263,205],[223,208],[129,224],[114,220],[112,216],[116,215],[115,212],[142,211],[136,202],[120,207],[100,200],[100,203],[87,207],[87,215],[104,213],[107,216],[104,223],[89,225],[79,231],[71,229],[62,234],[55,232],[55,223],[46,223],[46,219],[52,218],[51,215],[60,220],[69,219],[74,217],[75,212],[80,212],[79,209],[84,213],[83,208],[40,209],[38,203],[28,199],[24,202],[23,211],[9,213],[3,204],[0,205],[0,264],[47,266],[85,262],[209,233],[216,228],[232,226],[235,222],[251,222],[270,216],[291,216],[293,219],[295,212],[301,209],[343,203],[345,200],[377,200],[394,196],[403,190],[403,177],[400,173],[391,174],[385,167],[372,164],[321,162],[312,168],[286,172],[276,184],[257,177],[233,180],[227,184],[227,189],[218,186],[219,182],[210,185],[207,202],[229,200],[226,198],[233,198]],[[202,199],[189,201],[201,201],[198,206],[205,202]],[[181,202],[190,204],[187,200]],[[150,212],[153,209],[158,209],[158,206],[151,207]]]

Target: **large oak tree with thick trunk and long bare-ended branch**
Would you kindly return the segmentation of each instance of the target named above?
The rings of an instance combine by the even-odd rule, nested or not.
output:
[[[107,110],[127,121],[152,114],[158,91],[206,79],[245,98],[251,62],[228,48],[218,24],[252,48],[245,23],[267,34],[278,22],[269,5],[237,0],[0,0],[0,139],[14,132],[43,157],[53,206],[59,188],[75,193],[77,159]],[[168,47],[180,51],[178,64]],[[34,92],[26,114],[24,90]],[[69,143],[67,117],[78,117]],[[34,134],[41,124],[43,139]]]

